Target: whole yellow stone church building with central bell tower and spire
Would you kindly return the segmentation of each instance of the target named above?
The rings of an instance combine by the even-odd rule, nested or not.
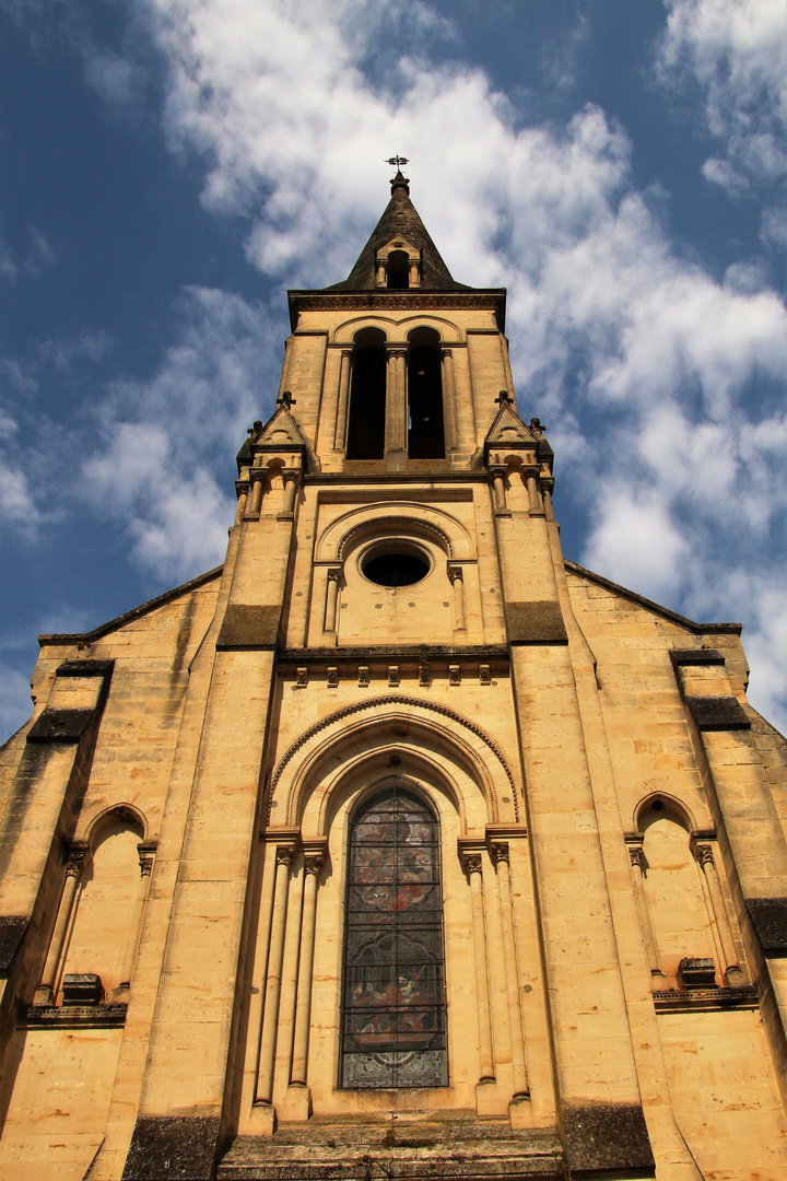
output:
[[[505,298],[398,174],[223,566],[40,638],[4,1181],[787,1181],[786,744],[737,625],[564,559]]]

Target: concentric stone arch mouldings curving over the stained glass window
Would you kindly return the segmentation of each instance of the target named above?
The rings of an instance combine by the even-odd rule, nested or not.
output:
[[[461,835],[518,821],[513,774],[494,740],[454,710],[404,694],[346,706],[307,730],[274,770],[269,816],[275,802],[277,823],[324,840],[337,800],[407,769],[453,801]]]

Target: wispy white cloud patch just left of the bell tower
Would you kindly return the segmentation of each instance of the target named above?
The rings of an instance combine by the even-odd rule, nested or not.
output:
[[[81,495],[124,521],[135,557],[176,579],[223,557],[230,457],[245,425],[273,409],[283,337],[264,309],[219,291],[189,289],[182,313],[159,371],[117,381],[103,399],[81,469]]]

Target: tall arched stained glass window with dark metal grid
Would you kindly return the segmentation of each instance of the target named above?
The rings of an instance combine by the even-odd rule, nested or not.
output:
[[[349,835],[341,1085],[447,1087],[440,840],[401,788]]]

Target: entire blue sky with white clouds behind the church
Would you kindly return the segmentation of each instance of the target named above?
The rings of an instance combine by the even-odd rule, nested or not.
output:
[[[783,0],[0,0],[0,731],[35,635],[222,560],[288,286],[409,157],[509,288],[568,557],[742,620],[787,727]]]

